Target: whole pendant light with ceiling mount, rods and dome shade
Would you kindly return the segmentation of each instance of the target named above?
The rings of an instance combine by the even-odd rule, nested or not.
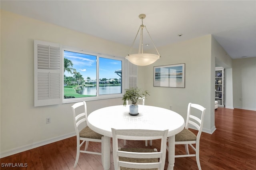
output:
[[[158,50],[156,49],[156,46],[146,28],[146,26],[143,25],[143,19],[146,17],[145,14],[140,14],[139,15],[139,18],[142,20],[142,24],[140,25],[139,27],[139,30],[134,38],[134,41],[132,43],[132,47],[130,48],[129,50],[129,53],[128,55],[125,57],[129,62],[131,62],[132,64],[135,64],[137,66],[147,66],[149,64],[152,64],[154,63],[156,60],[158,60],[161,56],[159,55],[158,53]],[[146,54],[146,53],[143,53],[143,28],[146,29],[146,31],[148,32],[148,35],[150,37],[150,40],[152,42],[152,44],[154,45],[155,49],[156,49],[156,52],[158,55],[156,54]],[[138,33],[140,32],[140,45],[139,45],[139,52],[138,54],[130,54],[131,51],[132,51],[132,48],[134,46],[134,42],[138,36]]]

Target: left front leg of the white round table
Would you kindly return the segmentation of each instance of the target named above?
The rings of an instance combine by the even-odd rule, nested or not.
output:
[[[101,161],[104,170],[110,169],[110,137],[102,137],[101,143]]]

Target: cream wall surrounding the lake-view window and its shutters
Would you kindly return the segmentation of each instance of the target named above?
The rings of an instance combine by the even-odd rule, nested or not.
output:
[[[1,11],[1,157],[74,136],[72,103],[34,107],[34,39],[115,56],[130,48]],[[122,100],[90,101],[88,113],[116,104]]]

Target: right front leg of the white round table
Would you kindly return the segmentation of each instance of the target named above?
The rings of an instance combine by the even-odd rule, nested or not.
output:
[[[175,161],[175,135],[168,137],[168,170],[173,170]]]

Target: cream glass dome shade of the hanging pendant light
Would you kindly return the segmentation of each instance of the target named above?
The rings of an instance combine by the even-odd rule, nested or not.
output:
[[[160,58],[156,54],[130,54],[125,57],[129,62],[137,66],[147,66]]]

